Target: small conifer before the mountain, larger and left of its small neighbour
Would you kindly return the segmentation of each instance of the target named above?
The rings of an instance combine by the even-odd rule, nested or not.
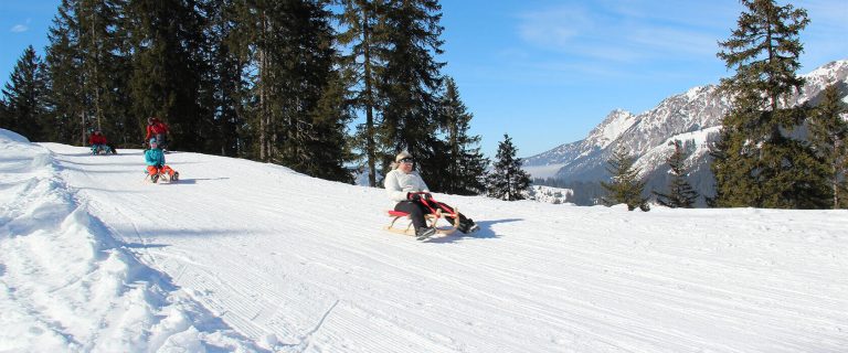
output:
[[[624,145],[615,148],[607,163],[610,165],[606,171],[610,172],[612,182],[601,182],[606,190],[604,203],[608,206],[624,203],[627,204],[628,211],[636,207],[648,211],[647,199],[642,196],[645,190],[645,181],[639,179],[642,169],[634,165],[636,160],[629,156]]]

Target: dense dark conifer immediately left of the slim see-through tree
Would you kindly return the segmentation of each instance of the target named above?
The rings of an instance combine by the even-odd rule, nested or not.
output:
[[[332,46],[331,14],[324,8],[324,1],[290,2],[286,30],[293,35],[285,36],[284,43],[299,50],[280,53],[277,63],[277,78],[282,79],[275,87],[286,98],[280,101],[286,128],[282,161],[309,175],[346,180],[346,146],[340,132],[348,117],[339,87],[342,76],[332,68],[337,52]]]

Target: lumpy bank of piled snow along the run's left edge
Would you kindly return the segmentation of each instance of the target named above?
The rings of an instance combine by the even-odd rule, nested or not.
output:
[[[116,243],[47,149],[0,129],[0,351],[254,346]]]

